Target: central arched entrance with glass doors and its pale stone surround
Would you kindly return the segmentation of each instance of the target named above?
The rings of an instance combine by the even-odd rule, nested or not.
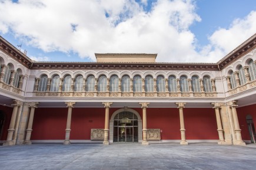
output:
[[[109,121],[109,142],[141,142],[142,120],[131,108],[115,111]]]

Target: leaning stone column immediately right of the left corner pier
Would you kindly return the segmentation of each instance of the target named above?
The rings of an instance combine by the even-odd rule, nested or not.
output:
[[[37,103],[37,102],[31,102],[29,104],[30,114],[29,114],[29,120],[28,120],[28,127],[26,128],[26,138],[24,141],[24,144],[26,144],[26,145],[32,144],[30,138],[31,138],[31,133],[32,133],[32,125],[33,125],[33,121],[34,121],[35,108],[37,108],[38,104],[39,103]]]

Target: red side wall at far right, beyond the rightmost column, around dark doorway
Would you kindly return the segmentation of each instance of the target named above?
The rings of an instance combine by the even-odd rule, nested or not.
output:
[[[238,107],[237,108],[237,116],[238,116],[238,121],[239,125],[241,128],[241,135],[242,135],[242,140],[251,140],[250,138],[250,133],[249,129],[247,126],[246,122],[246,116],[250,114],[252,117],[252,120],[254,122],[254,128],[256,130],[256,104],[253,104],[251,106],[244,106],[244,107]]]

